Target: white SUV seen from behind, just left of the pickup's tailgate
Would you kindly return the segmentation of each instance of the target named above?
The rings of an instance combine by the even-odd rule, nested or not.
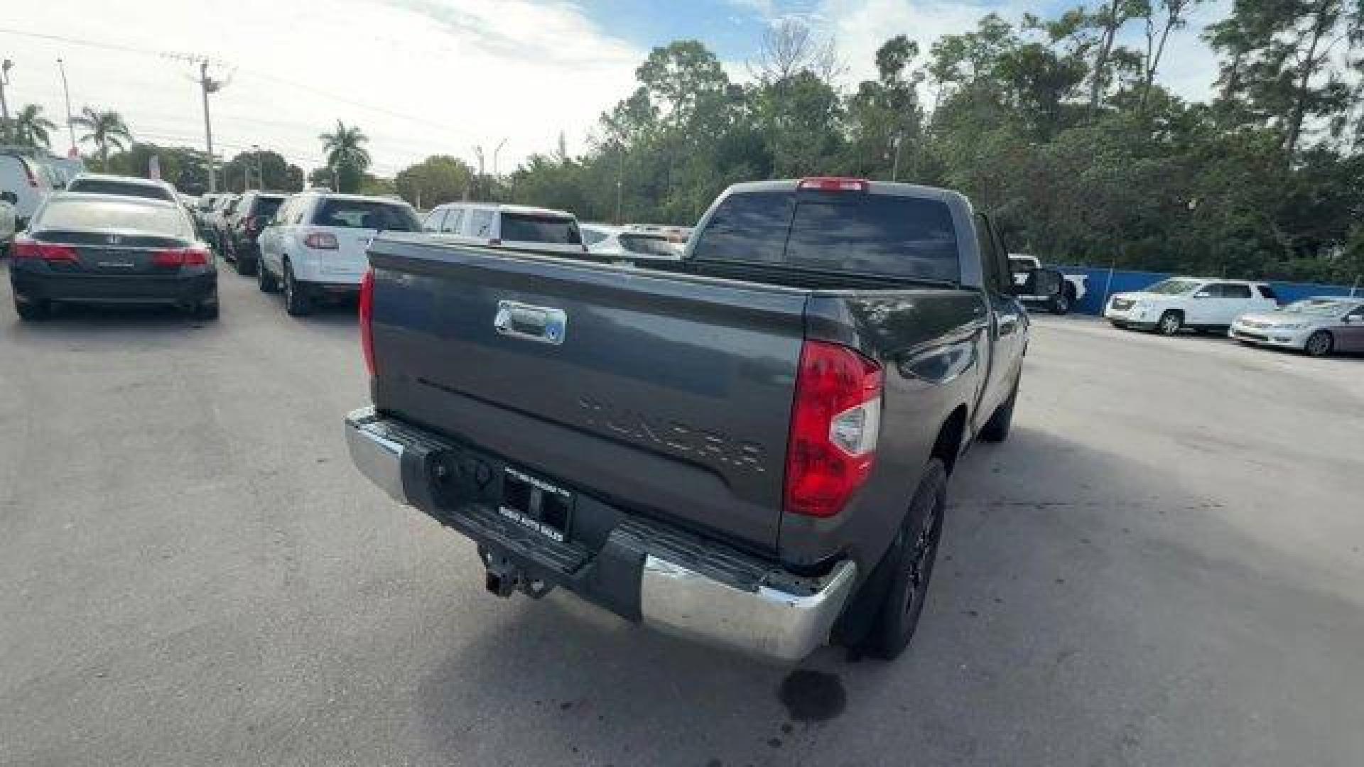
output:
[[[370,267],[366,248],[379,232],[419,232],[412,206],[382,197],[304,191],[291,197],[258,239],[262,291],[284,285],[293,317],[321,299],[353,296]]]

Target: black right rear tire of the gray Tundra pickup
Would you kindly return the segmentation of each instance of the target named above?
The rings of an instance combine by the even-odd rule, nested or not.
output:
[[[910,510],[899,534],[877,569],[887,568],[880,579],[868,579],[868,587],[881,587],[880,609],[866,637],[866,650],[892,661],[908,647],[923,613],[933,562],[943,539],[943,513],[947,509],[947,467],[940,459],[923,469]]]

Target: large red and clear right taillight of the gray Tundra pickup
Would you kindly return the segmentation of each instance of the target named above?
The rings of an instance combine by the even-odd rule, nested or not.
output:
[[[786,454],[786,510],[831,517],[876,461],[885,374],[858,352],[805,341]]]

